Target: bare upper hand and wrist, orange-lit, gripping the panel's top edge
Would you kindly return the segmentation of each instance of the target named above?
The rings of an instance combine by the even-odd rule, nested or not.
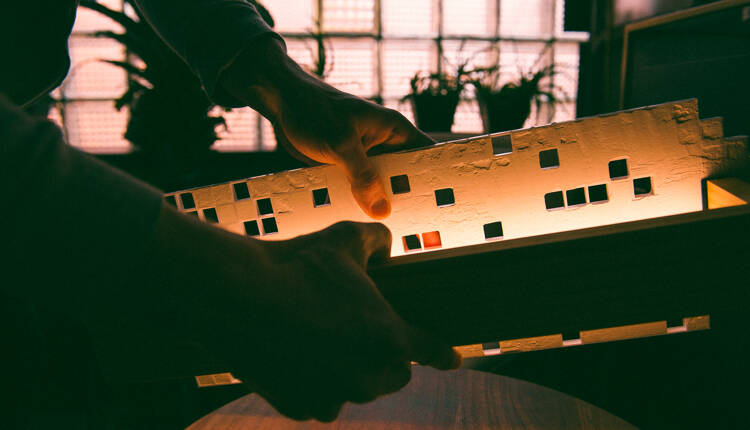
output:
[[[241,55],[222,83],[274,123],[277,140],[293,155],[339,166],[355,200],[374,219],[387,217],[391,205],[366,153],[378,145],[396,150],[435,143],[399,112],[307,74],[271,37]]]

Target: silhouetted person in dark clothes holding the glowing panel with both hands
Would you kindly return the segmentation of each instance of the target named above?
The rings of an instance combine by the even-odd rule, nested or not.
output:
[[[258,110],[296,151],[343,169],[365,213],[388,216],[366,151],[429,143],[401,114],[305,73],[245,1],[137,3],[213,100]],[[280,242],[234,235],[178,213],[159,191],[24,114],[20,106],[67,72],[76,4],[0,6],[0,318],[11,375],[2,390],[16,407],[3,425],[92,425],[66,403],[96,392],[71,357],[89,357],[116,379],[179,360],[169,345],[197,345],[283,414],[320,420],[346,401],[398,390],[411,361],[458,366],[449,346],[407,325],[367,276],[369,257],[391,243],[383,225],[340,223]],[[84,338],[71,334],[78,328]],[[76,355],[89,344],[92,355]]]

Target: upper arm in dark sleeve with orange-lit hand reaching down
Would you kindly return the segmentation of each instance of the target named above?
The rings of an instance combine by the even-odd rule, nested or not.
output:
[[[294,155],[339,166],[366,214],[375,219],[390,214],[385,184],[367,152],[379,145],[434,143],[403,115],[307,74],[244,0],[138,4],[214,100],[254,108],[274,123],[278,140]]]

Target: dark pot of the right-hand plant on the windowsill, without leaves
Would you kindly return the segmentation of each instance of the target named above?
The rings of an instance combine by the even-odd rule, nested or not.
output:
[[[477,101],[485,133],[523,128],[531,113],[531,97],[520,92],[477,92]]]

